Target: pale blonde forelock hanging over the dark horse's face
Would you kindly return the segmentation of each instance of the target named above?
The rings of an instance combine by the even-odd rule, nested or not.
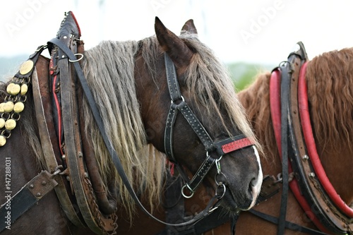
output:
[[[186,70],[186,85],[198,109],[207,119],[219,120],[229,135],[234,135],[228,129],[229,126],[237,126],[239,131],[256,143],[261,152],[261,145],[253,134],[225,65],[195,35],[185,34],[181,37],[195,53]]]

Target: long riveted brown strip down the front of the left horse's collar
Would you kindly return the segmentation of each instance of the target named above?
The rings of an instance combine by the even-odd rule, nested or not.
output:
[[[71,45],[71,49],[74,49]],[[60,50],[59,50],[60,52]],[[85,223],[96,234],[114,230],[114,214],[112,216],[102,215],[95,201],[92,183],[86,171],[83,157],[83,147],[80,137],[80,121],[78,119],[78,103],[76,96],[76,76],[71,69],[68,58],[59,60],[61,76],[61,109],[65,153],[68,169],[71,176],[71,184],[76,196],[78,207],[85,219]]]

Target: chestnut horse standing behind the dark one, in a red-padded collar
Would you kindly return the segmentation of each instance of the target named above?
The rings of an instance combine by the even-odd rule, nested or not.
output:
[[[303,77],[307,85],[309,105],[301,111],[309,110],[320,162],[335,192],[343,200],[342,207],[345,207],[348,222],[342,221],[340,226],[345,228],[347,234],[353,234],[353,48],[325,52],[316,56],[306,63],[306,73]],[[251,119],[258,139],[263,144],[265,153],[261,155],[263,174],[277,176],[282,172],[282,163],[273,127],[274,114],[271,114],[270,96],[273,94],[270,93],[270,79],[270,72],[259,74],[248,88],[238,93],[238,97]],[[281,192],[282,188],[268,200],[253,207],[253,210],[279,218]],[[204,188],[200,191],[200,195],[203,193]],[[320,195],[316,197],[319,198]],[[293,223],[294,230],[285,229],[285,234],[309,234],[302,230],[302,227],[322,231],[325,234],[345,234],[335,233],[322,223],[313,222],[315,219],[313,213],[301,207],[291,188],[287,200],[285,219]],[[194,200],[193,203],[198,202]],[[191,211],[191,205],[187,205],[187,211]],[[270,235],[277,234],[277,229],[277,224],[251,212],[241,212],[235,234]],[[229,222],[204,234],[229,234]]]

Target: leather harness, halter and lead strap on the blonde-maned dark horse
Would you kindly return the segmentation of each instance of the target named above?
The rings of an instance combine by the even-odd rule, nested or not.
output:
[[[42,51],[47,48],[51,52],[49,62],[44,56],[41,56]],[[38,47],[36,52],[21,66],[20,71],[13,78],[14,82],[11,84],[17,84],[19,79],[25,80],[25,84],[28,85],[32,83],[40,142],[42,143],[47,170],[35,176],[16,195],[11,197],[11,201],[16,202],[13,203],[11,208],[11,223],[15,222],[32,205],[35,205],[46,193],[54,189],[61,207],[74,225],[77,227],[89,227],[96,234],[116,233],[116,200],[108,198],[104,188],[97,186],[101,185],[100,183],[102,182],[97,171],[97,162],[95,162],[95,157],[92,154],[86,154],[91,146],[89,140],[81,138],[84,133],[81,126],[82,123],[79,120],[83,114],[77,107],[77,99],[80,92],[88,100],[97,126],[102,133],[104,144],[129,193],[131,193],[141,210],[153,219],[162,222],[150,215],[138,200],[138,196],[133,191],[124,169],[121,167],[119,157],[105,133],[99,109],[97,109],[83,71],[80,68],[79,61],[83,58],[83,52],[83,42],[80,40],[78,23],[73,13],[69,11],[65,14],[56,38],[50,40],[47,45]],[[225,194],[227,181],[220,170],[219,163],[222,155],[249,147],[253,143],[242,134],[214,142],[195,114],[193,114],[189,105],[184,101],[184,97],[182,97],[179,90],[177,73],[172,60],[167,54],[164,54],[164,59],[169,93],[172,99],[164,136],[164,147],[167,156],[170,161],[177,164],[172,150],[172,136],[178,111],[183,114],[198,135],[198,138],[201,139],[201,142],[205,145],[206,152],[205,161],[201,164],[193,179],[189,180],[185,173],[181,173],[186,182],[181,189],[182,195],[191,197],[211,167],[214,164],[217,167],[217,175],[215,176],[217,190],[205,210],[188,222],[180,224],[162,222],[168,226],[186,226],[195,224],[198,220],[210,215],[218,207],[220,199]],[[48,66],[49,72],[47,71]],[[37,71],[41,72],[40,77]],[[76,80],[80,82],[80,88],[76,88]],[[9,94],[11,95],[11,91]],[[10,137],[11,129],[6,129],[4,133],[6,135],[1,133],[1,136],[4,137],[1,137],[0,140],[1,143],[5,144],[6,139]],[[217,152],[217,159],[210,157],[208,154],[213,151]],[[179,164],[177,166],[179,167]],[[182,172],[181,167],[179,167],[179,171]],[[190,195],[186,195],[184,188],[189,190]],[[4,205],[0,207],[1,216],[6,213]],[[0,231],[4,230],[2,226],[3,224],[1,224]]]

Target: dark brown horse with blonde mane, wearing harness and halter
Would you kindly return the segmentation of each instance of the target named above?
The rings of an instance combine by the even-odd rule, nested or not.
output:
[[[198,40],[192,20],[182,31],[177,36],[156,18],[155,36],[102,42],[75,59],[62,45],[83,44],[69,12],[48,44],[52,57],[39,55],[33,66],[40,47],[1,84],[1,234],[155,234],[154,219],[136,217],[141,209],[124,179],[158,216],[164,153],[193,177],[184,194],[198,183],[212,188],[208,210],[222,205],[232,215],[254,205],[260,145],[225,68]],[[37,183],[41,172],[48,177]],[[55,191],[42,196],[51,183]]]

